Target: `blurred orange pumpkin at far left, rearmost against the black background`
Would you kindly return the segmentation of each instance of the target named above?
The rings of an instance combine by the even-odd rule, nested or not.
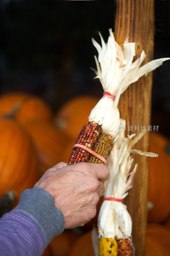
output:
[[[51,110],[41,99],[24,93],[11,93],[0,97],[0,116],[6,115],[22,124],[31,120],[52,120]]]

